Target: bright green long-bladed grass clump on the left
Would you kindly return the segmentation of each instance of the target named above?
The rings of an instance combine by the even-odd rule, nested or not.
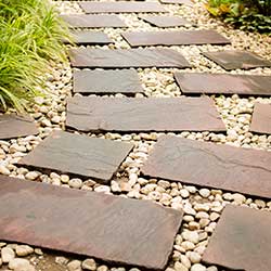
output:
[[[18,112],[40,93],[49,61],[65,61],[66,25],[47,0],[0,0],[0,107]]]

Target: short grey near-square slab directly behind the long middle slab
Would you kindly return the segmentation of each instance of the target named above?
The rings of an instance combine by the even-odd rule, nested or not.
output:
[[[74,92],[126,93],[144,92],[137,70],[75,70]]]

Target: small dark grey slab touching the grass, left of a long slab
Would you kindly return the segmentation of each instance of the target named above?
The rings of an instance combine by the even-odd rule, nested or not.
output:
[[[77,44],[109,44],[113,40],[102,31],[73,31],[74,42]]]

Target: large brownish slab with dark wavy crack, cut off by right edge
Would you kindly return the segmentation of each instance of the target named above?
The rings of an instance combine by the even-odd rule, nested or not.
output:
[[[271,197],[271,152],[160,137],[145,176]]]

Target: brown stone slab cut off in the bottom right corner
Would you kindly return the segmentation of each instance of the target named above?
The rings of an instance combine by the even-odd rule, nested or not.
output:
[[[227,205],[203,260],[231,270],[270,271],[271,212]]]

